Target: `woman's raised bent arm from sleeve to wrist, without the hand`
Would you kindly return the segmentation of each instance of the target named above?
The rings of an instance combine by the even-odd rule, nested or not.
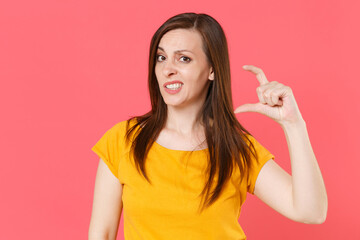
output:
[[[305,121],[282,125],[291,159],[290,176],[273,160],[261,169],[254,195],[282,215],[303,223],[326,219],[325,184],[312,150]]]

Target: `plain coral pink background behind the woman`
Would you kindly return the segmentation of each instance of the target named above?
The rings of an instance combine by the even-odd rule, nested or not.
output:
[[[248,194],[249,239],[360,239],[359,2],[2,1],[0,239],[87,239],[98,156],[115,123],[150,109],[150,39],[169,17],[207,13],[229,44],[234,109],[257,102],[255,76],[293,89],[327,187],[322,225],[293,222]],[[291,173],[280,126],[240,122]],[[355,183],[355,184],[354,184]],[[121,218],[118,239],[123,239]]]

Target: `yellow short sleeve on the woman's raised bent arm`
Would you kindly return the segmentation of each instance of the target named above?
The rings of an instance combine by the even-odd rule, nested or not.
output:
[[[270,153],[263,145],[261,145],[253,136],[248,134],[247,136],[250,139],[250,141],[253,143],[258,157],[257,159],[255,159],[254,156],[250,155],[252,160],[251,162],[252,167],[249,168],[247,191],[254,195],[256,179],[260,173],[261,168],[270,159],[275,160],[275,156],[272,153]]]

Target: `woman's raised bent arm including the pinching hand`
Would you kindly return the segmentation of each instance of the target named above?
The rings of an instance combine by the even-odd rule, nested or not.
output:
[[[256,75],[260,102],[244,104],[234,112],[258,112],[279,123],[291,158],[292,176],[272,159],[268,161],[258,174],[254,194],[294,221],[324,222],[328,207],[325,184],[292,89],[276,81],[269,82],[258,67],[243,68]]]

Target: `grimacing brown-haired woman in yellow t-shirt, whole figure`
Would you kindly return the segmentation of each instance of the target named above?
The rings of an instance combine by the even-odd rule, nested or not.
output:
[[[89,239],[246,239],[238,223],[246,193],[291,220],[325,221],[327,194],[291,88],[260,68],[260,102],[233,111],[228,48],[219,23],[183,13],[154,34],[149,55],[152,109],[110,128],[100,156]],[[236,119],[252,111],[286,135],[292,176]],[[261,171],[260,171],[261,170]]]

